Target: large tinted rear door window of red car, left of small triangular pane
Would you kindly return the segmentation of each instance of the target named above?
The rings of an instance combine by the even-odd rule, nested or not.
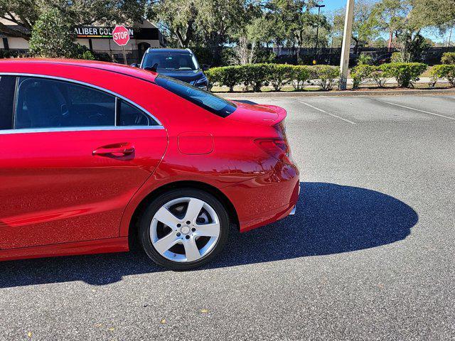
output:
[[[61,80],[19,77],[14,129],[114,126],[115,97]]]

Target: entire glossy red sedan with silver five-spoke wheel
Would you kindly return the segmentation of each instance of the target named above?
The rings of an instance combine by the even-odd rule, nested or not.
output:
[[[128,251],[185,270],[293,213],[286,112],[154,72],[0,61],[0,261]]]

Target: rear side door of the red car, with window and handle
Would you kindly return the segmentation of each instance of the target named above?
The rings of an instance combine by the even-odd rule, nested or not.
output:
[[[0,249],[118,237],[164,156],[164,127],[68,80],[0,75],[0,101]]]

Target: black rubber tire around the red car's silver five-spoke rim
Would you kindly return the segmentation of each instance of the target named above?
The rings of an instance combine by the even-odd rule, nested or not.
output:
[[[207,202],[207,204],[215,210],[218,215],[218,219],[220,220],[220,234],[215,247],[211,249],[210,253],[206,254],[203,258],[198,259],[197,261],[178,262],[166,259],[164,256],[161,256],[158,251],[156,251],[151,242],[150,225],[154,215],[167,202],[178,199],[179,197],[195,197],[196,199]],[[203,190],[181,188],[169,190],[168,192],[159,195],[159,197],[156,197],[156,199],[146,207],[139,221],[139,242],[147,256],[149,256],[149,258],[156,264],[173,271],[186,271],[207,264],[209,261],[212,261],[220,253],[220,251],[223,250],[223,247],[228,240],[229,227],[230,222],[228,212],[226,212],[225,207],[218,199]]]

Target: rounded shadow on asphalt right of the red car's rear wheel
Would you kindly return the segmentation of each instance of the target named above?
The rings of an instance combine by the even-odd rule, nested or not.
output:
[[[405,239],[419,217],[390,195],[333,183],[301,183],[296,214],[245,234],[232,233],[210,267],[339,254]]]

